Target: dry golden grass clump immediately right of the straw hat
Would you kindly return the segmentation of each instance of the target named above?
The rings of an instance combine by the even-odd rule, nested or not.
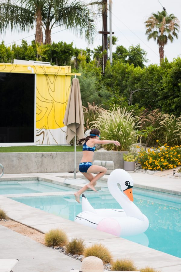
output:
[[[112,271],[136,271],[137,267],[132,260],[129,259],[117,259],[112,263]]]

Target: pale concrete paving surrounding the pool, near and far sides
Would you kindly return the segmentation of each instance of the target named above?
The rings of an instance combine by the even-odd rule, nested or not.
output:
[[[130,173],[133,180],[134,186],[139,188],[151,189],[165,193],[176,194],[177,196],[181,195],[181,183],[179,179],[170,179],[167,177],[160,177],[160,176],[151,176],[148,174],[143,173]],[[57,182],[59,181],[60,176],[67,176],[72,177],[73,174],[69,173],[33,173],[33,174],[5,174],[1,180],[13,180],[13,178],[17,178],[19,180],[38,177],[39,179],[53,179]],[[78,177],[81,174],[77,175]],[[102,180],[106,182],[109,175],[105,175]],[[76,185],[77,186],[77,185]],[[83,186],[83,184],[80,184]],[[68,194],[70,192],[63,192],[64,194]],[[47,195],[47,193],[44,193]],[[40,232],[47,232],[52,228],[63,228],[66,230],[68,237],[71,239],[73,237],[81,237],[85,240],[87,245],[92,243],[98,242],[104,244],[107,248],[109,248],[110,252],[113,254],[114,258],[126,257],[131,258],[134,261],[135,265],[138,268],[143,266],[150,266],[155,269],[159,269],[162,272],[179,272],[181,271],[181,258],[174,257],[170,254],[163,253],[161,251],[157,251],[148,247],[145,247],[140,244],[136,244],[134,242],[125,240],[123,238],[101,232],[84,225],[80,225],[76,222],[72,222],[68,219],[61,218],[59,216],[41,211],[39,209],[35,209],[33,207],[27,206],[23,203],[14,201],[12,199],[8,199],[5,196],[0,196],[0,207],[4,209],[8,216],[17,221],[21,222],[22,224],[28,225],[32,228],[39,230]],[[7,233],[7,234],[6,234]],[[9,238],[5,235],[10,235]],[[19,237],[19,238],[18,238]],[[1,241],[1,252],[0,258],[18,258],[19,262],[14,267],[14,272],[23,272],[23,271],[67,271],[71,268],[79,269],[81,267],[81,263],[79,261],[75,261],[70,257],[65,256],[64,254],[58,253],[53,251],[50,248],[46,248],[45,246],[32,241],[28,237],[23,236],[23,240],[20,237],[20,234],[13,232],[11,230],[6,230],[5,227],[2,226],[0,228],[0,241]],[[17,240],[23,241],[22,247],[20,247],[16,252],[12,250],[14,247],[13,245],[17,243]],[[33,243],[33,246],[30,245],[30,240]],[[18,248],[18,244],[16,244]],[[30,247],[30,250],[28,249]],[[26,250],[24,250],[26,248]],[[45,251],[43,248],[46,248]],[[40,262],[42,262],[42,252],[44,256],[44,266],[47,269],[37,266],[37,261],[35,261],[32,255],[38,256],[40,254]],[[51,254],[49,252],[52,252]],[[13,253],[14,252],[14,253]],[[29,253],[28,253],[29,252]],[[29,254],[29,255],[28,255]],[[17,256],[18,255],[18,256]],[[53,255],[54,257],[50,257],[49,255]],[[63,255],[63,257],[62,257]],[[30,267],[24,267],[24,260],[25,256],[28,258],[28,262],[30,263]],[[57,257],[60,256],[60,257]],[[66,257],[66,258],[65,258]],[[56,258],[63,258],[61,268],[55,266],[55,259]],[[21,261],[22,260],[22,261]],[[73,262],[72,262],[73,261]],[[33,264],[34,262],[34,264]],[[58,264],[58,263],[57,263]],[[70,264],[70,266],[69,266]],[[51,267],[52,265],[52,267]],[[73,265],[73,266],[72,266]],[[70,268],[69,268],[70,267]]]

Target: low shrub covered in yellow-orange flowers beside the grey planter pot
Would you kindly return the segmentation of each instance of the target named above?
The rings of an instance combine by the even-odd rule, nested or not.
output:
[[[163,170],[172,169],[181,165],[181,145],[173,147],[164,144],[164,146],[147,151],[144,148],[140,149],[138,153],[138,163],[141,164],[142,169],[149,170]]]

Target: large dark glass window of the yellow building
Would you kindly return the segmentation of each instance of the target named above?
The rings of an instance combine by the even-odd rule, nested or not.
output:
[[[0,143],[34,143],[34,80],[0,73]]]

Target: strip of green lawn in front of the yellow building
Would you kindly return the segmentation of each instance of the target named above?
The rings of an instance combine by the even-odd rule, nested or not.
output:
[[[8,147],[0,147],[0,153],[7,152],[73,152],[74,145],[66,146],[8,146]],[[76,151],[82,151],[81,146],[76,147]]]

